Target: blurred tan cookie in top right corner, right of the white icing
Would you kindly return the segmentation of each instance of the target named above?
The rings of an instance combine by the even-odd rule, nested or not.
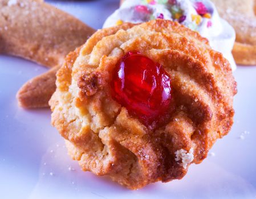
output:
[[[237,64],[256,65],[256,1],[212,0],[236,32],[233,56]]]

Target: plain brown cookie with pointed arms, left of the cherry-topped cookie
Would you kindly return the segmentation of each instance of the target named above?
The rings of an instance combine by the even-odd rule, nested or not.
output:
[[[43,1],[0,0],[0,53],[55,67],[22,86],[17,93],[19,105],[48,107],[56,88],[55,73],[64,57],[94,32],[74,16]]]

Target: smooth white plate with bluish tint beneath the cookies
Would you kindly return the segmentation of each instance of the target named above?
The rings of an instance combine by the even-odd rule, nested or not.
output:
[[[51,3],[95,28],[118,7],[117,1],[105,0]],[[256,67],[234,72],[235,122],[212,148],[215,156],[192,165],[182,180],[136,191],[82,172],[51,127],[50,110],[17,106],[20,86],[46,68],[3,55],[0,67],[0,198],[256,198]]]

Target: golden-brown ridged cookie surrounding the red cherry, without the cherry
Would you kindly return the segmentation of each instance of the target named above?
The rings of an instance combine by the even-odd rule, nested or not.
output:
[[[110,94],[113,68],[129,51],[161,64],[172,80],[175,110],[155,130]],[[52,125],[70,156],[84,171],[130,189],[181,179],[233,124],[237,89],[228,61],[197,32],[169,20],[97,31],[67,57],[56,85]]]

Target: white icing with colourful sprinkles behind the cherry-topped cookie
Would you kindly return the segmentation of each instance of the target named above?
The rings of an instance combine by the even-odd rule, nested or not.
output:
[[[224,57],[229,60],[232,70],[236,68],[234,58],[231,54],[235,41],[234,28],[230,26],[224,19],[220,18],[216,7],[209,0],[176,0],[178,7],[183,11],[183,15],[186,16],[184,22],[185,26],[192,30],[198,31],[202,36],[207,38],[210,42],[210,46],[221,52]],[[196,24],[192,20],[192,14],[197,15],[197,11],[194,8],[195,2],[202,2],[207,7],[209,13],[212,15],[210,19],[202,17],[200,24]],[[156,4],[156,5],[144,5],[147,6],[150,13],[137,12],[135,7],[138,5],[144,5],[141,0],[127,0],[121,5],[120,9],[116,10],[110,15],[103,27],[112,27],[116,25],[117,20],[131,23],[147,22],[161,14],[164,15],[164,19],[173,20],[172,13],[170,11],[171,5],[169,4]],[[208,27],[208,22],[212,22],[212,26]]]

